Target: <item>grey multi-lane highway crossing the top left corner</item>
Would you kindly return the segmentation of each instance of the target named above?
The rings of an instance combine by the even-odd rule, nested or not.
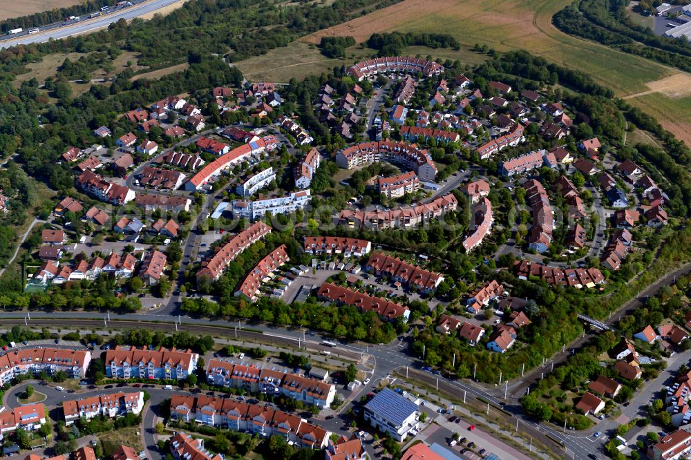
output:
[[[24,35],[17,35],[0,41],[0,48],[9,48],[10,46],[28,45],[32,43],[44,43],[50,39],[58,40],[70,37],[72,35],[81,35],[94,30],[108,27],[111,23],[120,21],[120,19],[134,19],[154,12],[159,8],[171,5],[178,0],[150,0],[150,1],[132,1],[133,6],[125,8],[113,8],[113,11],[95,19],[84,19],[82,21],[70,21],[69,23],[59,22],[46,26],[39,27],[40,31],[32,35],[26,35],[26,31],[22,32]]]

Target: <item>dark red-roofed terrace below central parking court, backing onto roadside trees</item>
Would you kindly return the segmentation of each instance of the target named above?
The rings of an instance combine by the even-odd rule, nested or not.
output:
[[[387,321],[403,318],[408,322],[410,309],[385,298],[370,296],[360,291],[341,287],[330,282],[323,282],[317,291],[317,297],[338,305],[350,305],[357,307],[361,312],[375,312],[377,316]]]

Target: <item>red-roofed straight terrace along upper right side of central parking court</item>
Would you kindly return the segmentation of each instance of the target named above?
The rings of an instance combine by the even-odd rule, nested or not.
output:
[[[377,276],[388,276],[392,281],[404,283],[410,289],[417,289],[424,294],[434,291],[439,283],[444,281],[442,274],[427,271],[405,260],[379,252],[372,253],[365,269]]]

